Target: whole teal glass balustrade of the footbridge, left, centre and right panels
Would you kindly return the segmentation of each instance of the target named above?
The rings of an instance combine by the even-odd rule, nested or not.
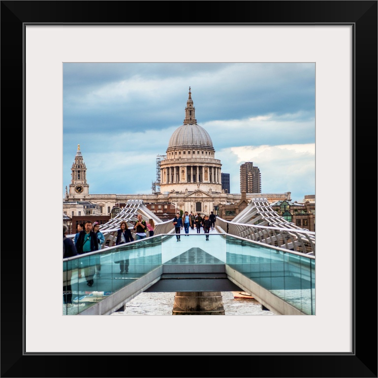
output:
[[[157,235],[66,259],[63,314],[79,314],[161,264],[228,264],[305,314],[315,314],[315,258],[225,234],[210,234],[207,241],[203,233],[181,233],[180,242],[175,234]]]

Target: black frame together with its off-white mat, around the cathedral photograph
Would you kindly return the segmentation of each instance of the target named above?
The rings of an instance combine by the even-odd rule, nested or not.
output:
[[[200,14],[193,7],[198,4]],[[212,361],[204,373],[209,377],[377,377],[376,305],[371,307],[377,253],[366,252],[372,248],[365,240],[374,238],[356,232],[366,201],[357,195],[356,180],[367,180],[356,174],[366,166],[357,160],[356,146],[363,143],[365,163],[377,144],[377,1],[171,1],[177,21],[154,22],[166,17],[162,5],[1,1],[3,127],[9,135],[13,127],[7,123],[19,127],[17,155],[23,156],[23,191],[17,195],[23,203],[22,248],[16,244],[15,252],[2,254],[7,284],[1,288],[1,376],[71,376],[67,360],[74,355],[87,362],[80,376],[101,377],[92,361],[114,355],[134,362],[138,357],[140,366],[153,356],[164,362],[203,356]],[[199,21],[185,20],[191,12],[189,19]],[[55,294],[62,291],[55,273],[61,255],[54,241],[61,238],[67,62],[315,63],[315,316],[62,316],[62,298]],[[369,138],[362,138],[362,130]],[[7,164],[6,177],[14,177],[14,167]],[[14,272],[16,263],[22,275]],[[248,367],[235,366],[232,359],[239,357]],[[67,373],[48,358],[59,358],[70,367]],[[43,361],[42,370],[35,359]],[[136,367],[125,374],[177,376],[168,371]],[[202,374],[188,369],[180,375]]]

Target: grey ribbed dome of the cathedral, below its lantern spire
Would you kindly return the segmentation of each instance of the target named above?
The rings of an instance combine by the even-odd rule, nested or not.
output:
[[[172,148],[207,147],[213,149],[213,142],[209,133],[197,124],[184,124],[177,128],[168,143],[168,150]]]

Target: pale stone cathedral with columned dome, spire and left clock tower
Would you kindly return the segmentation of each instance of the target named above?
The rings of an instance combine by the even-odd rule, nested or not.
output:
[[[175,208],[183,211],[203,214],[210,214],[211,211],[214,211],[222,217],[222,213],[217,210],[224,209],[227,205],[238,204],[242,200],[242,194],[225,193],[221,188],[222,164],[221,160],[216,159],[215,153],[209,133],[197,124],[189,88],[184,123],[171,135],[166,155],[160,161],[159,193],[90,194],[86,177],[87,168],[80,145],[78,145],[71,167],[71,183],[69,190],[66,188],[63,199],[63,212],[65,209],[66,214],[72,214],[72,211],[67,211],[70,208],[70,203],[89,201],[98,205],[101,215],[105,216],[110,215],[113,207],[125,203],[128,199],[142,199],[145,204],[152,205],[152,209],[158,208],[158,204],[172,204]],[[255,197],[267,198],[270,203],[291,199],[290,192],[247,194],[247,200]],[[244,201],[245,198],[243,195]]]

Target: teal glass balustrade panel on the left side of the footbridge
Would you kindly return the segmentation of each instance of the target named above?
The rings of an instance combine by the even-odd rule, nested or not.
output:
[[[159,235],[63,261],[63,315],[77,315],[160,265]]]

